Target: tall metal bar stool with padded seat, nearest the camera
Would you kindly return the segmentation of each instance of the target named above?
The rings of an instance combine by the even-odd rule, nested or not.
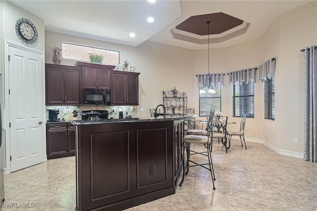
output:
[[[209,124],[212,124],[214,115],[214,110],[210,111],[210,118],[209,118]],[[212,134],[212,127],[207,127],[207,135],[185,135],[183,138],[183,144],[182,144],[182,160],[183,160],[183,176],[182,180],[179,183],[179,186],[182,186],[184,182],[185,175],[188,174],[189,167],[193,166],[201,166],[203,168],[208,169],[211,172],[211,179],[212,179],[212,189],[215,190],[214,187],[214,170],[212,165],[212,159],[211,159],[211,134]],[[204,152],[196,152],[190,149],[191,144],[200,144],[204,146],[204,149],[207,149],[207,152],[204,150]],[[186,160],[185,160],[185,151],[186,151]],[[200,155],[200,156],[207,156],[208,157],[208,163],[198,163],[194,160],[191,160],[191,156],[193,155]],[[190,165],[190,163],[193,163]],[[207,165],[207,167],[206,167]]]

